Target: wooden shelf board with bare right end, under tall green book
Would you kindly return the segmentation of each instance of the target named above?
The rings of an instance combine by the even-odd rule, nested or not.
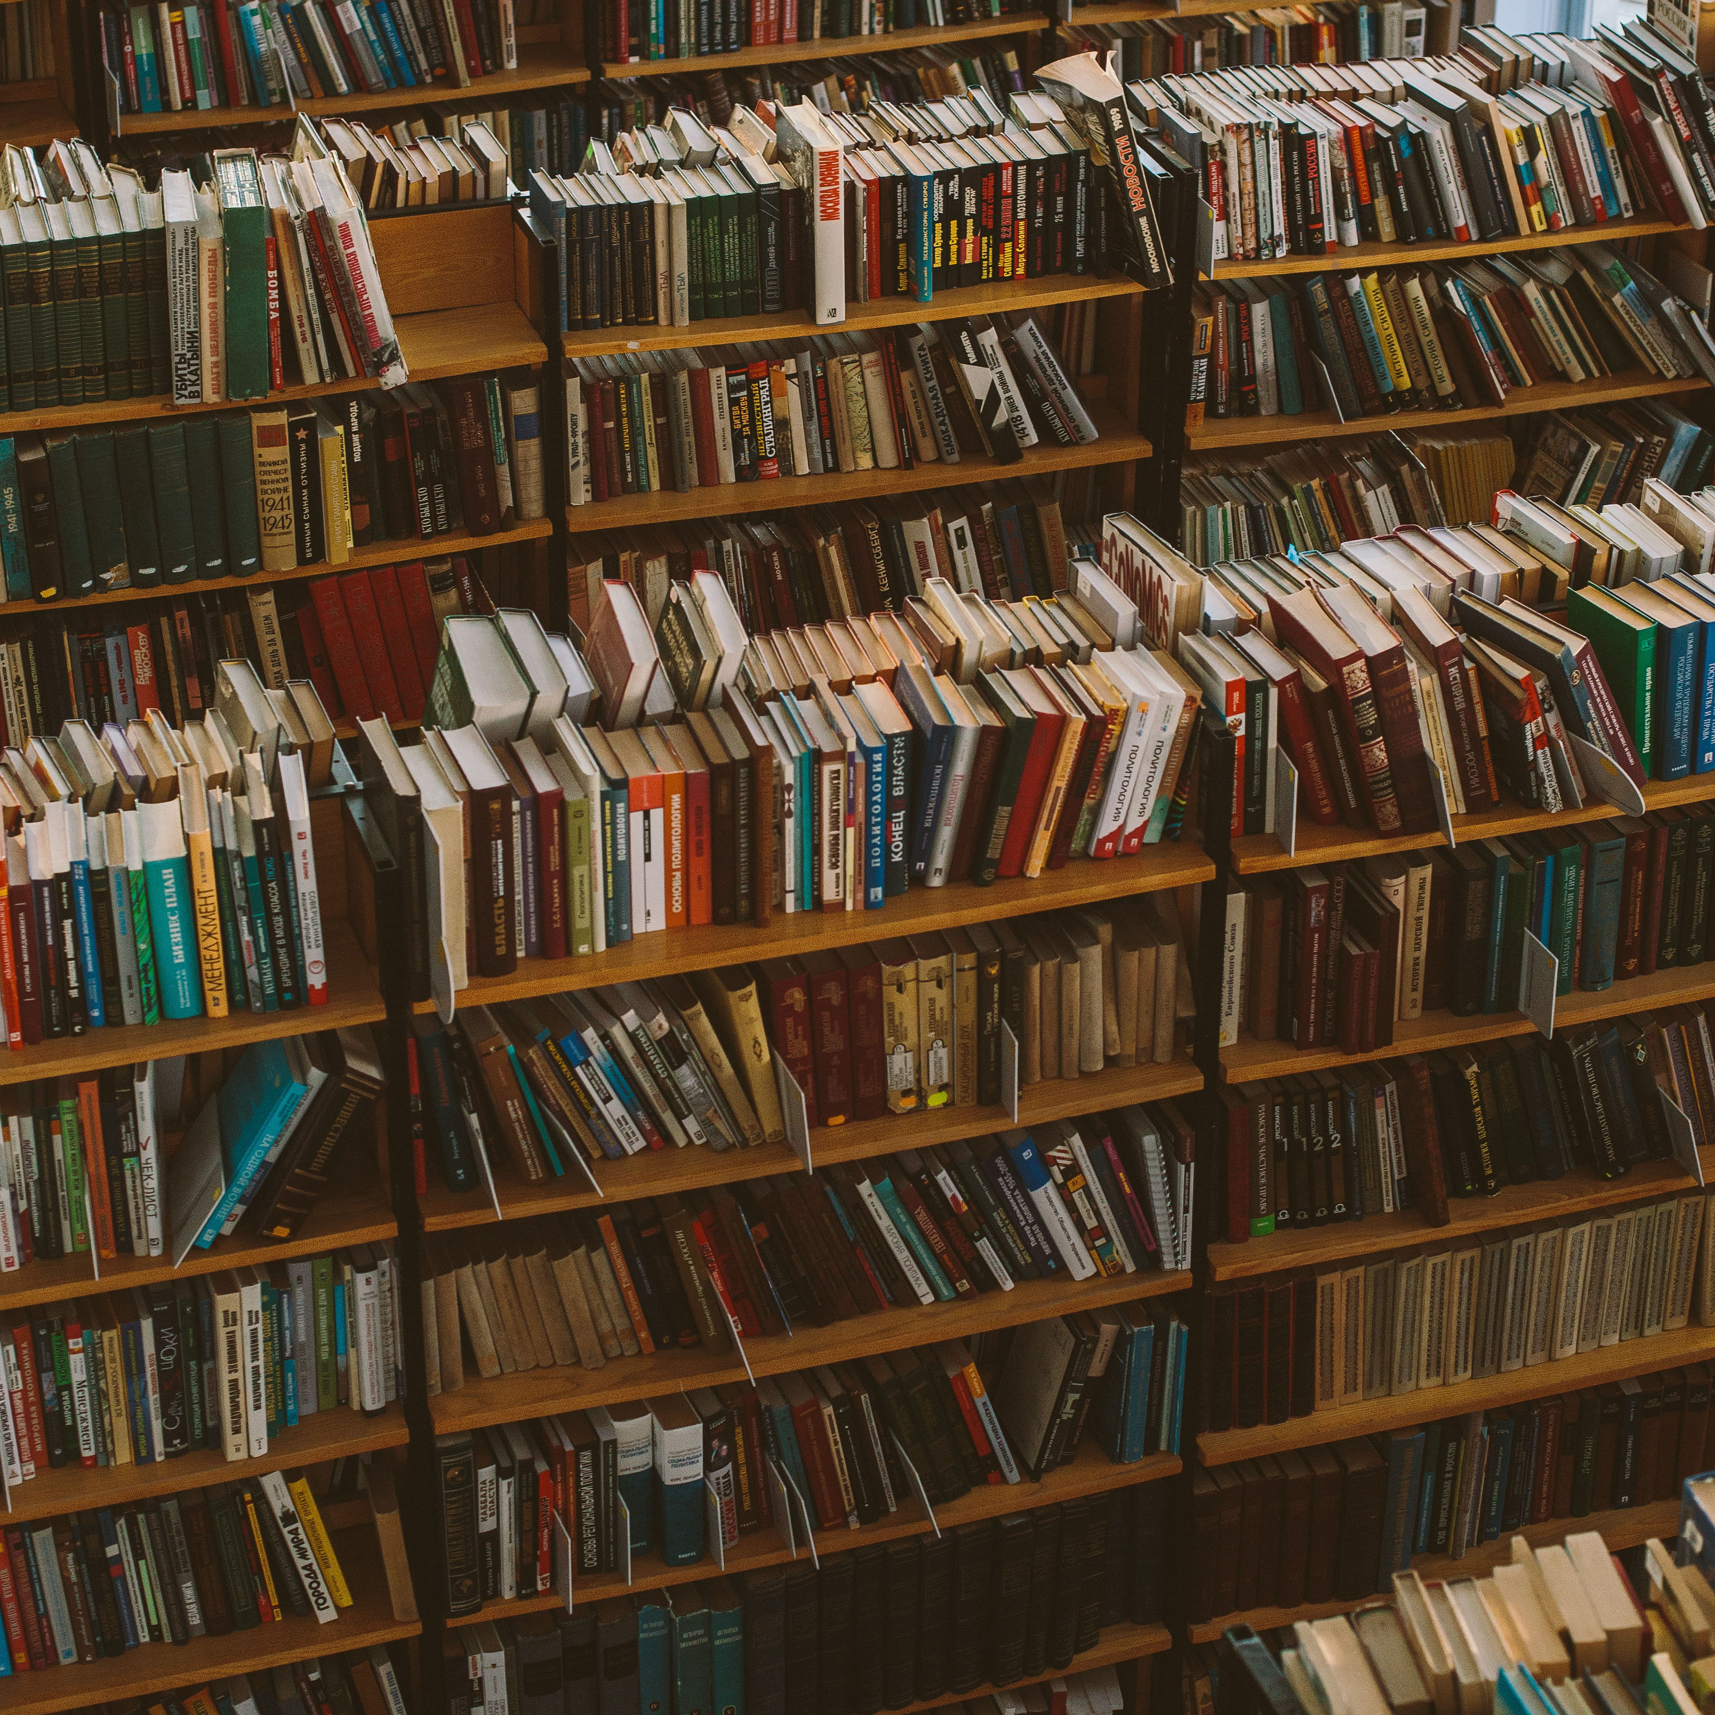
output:
[[[547,346],[516,304],[489,304],[482,310],[425,310],[394,321],[400,352],[412,381],[437,376],[472,376],[490,369],[539,369],[547,362]],[[261,410],[290,405],[293,400],[322,398],[329,393],[360,393],[381,382],[319,381],[312,388],[283,388],[266,400],[221,400],[214,405],[175,405],[168,393],[151,393],[141,400],[96,400],[93,405],[45,405],[29,412],[0,412],[0,434],[24,429],[75,429],[82,424],[127,422],[144,417],[178,417],[185,412]],[[264,575],[257,573],[257,580]],[[75,604],[74,604],[75,605]]]

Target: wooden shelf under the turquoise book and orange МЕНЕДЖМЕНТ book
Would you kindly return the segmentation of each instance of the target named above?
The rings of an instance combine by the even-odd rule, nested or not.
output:
[[[336,852],[328,861],[338,861]],[[273,1036],[334,1031],[348,1024],[379,1024],[388,1008],[376,972],[357,945],[350,924],[334,918],[322,926],[328,943],[328,1005],[295,1012],[233,1012],[225,1019],[163,1019],[129,1024],[82,1036],[62,1036],[26,1048],[0,1050],[0,1084],[38,1077],[96,1072],[127,1060],[161,1060],[168,1055],[202,1055],[238,1048]]]

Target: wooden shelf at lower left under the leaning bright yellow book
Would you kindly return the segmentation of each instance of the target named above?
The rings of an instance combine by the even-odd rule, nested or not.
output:
[[[178,1686],[199,1686],[226,1674],[257,1674],[310,1655],[367,1650],[372,1643],[415,1638],[422,1626],[394,1619],[388,1576],[372,1525],[333,1533],[334,1554],[352,1586],[352,1607],[326,1626],[288,1614],[273,1626],[230,1631],[225,1638],[192,1638],[184,1645],[147,1643],[123,1655],[43,1674],[0,1679],[0,1715],[51,1715],[87,1710],[106,1700],[144,1698]]]

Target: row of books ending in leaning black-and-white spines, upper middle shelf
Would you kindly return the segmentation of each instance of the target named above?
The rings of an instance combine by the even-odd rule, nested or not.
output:
[[[1029,312],[578,358],[566,388],[573,506],[969,456],[1015,465],[1099,434]]]

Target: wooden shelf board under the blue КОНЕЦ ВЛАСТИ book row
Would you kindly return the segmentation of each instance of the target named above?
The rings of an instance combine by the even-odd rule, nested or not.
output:
[[[530,995],[557,995],[568,988],[708,971],[753,959],[760,940],[767,940],[772,959],[803,957],[888,935],[928,935],[962,923],[993,923],[1213,880],[1214,864],[1195,844],[1146,845],[1135,858],[1111,863],[1079,859],[1063,870],[1044,870],[1034,882],[1012,876],[993,887],[914,887],[890,899],[882,911],[799,911],[775,918],[760,931],[753,923],[705,924],[640,935],[585,959],[521,959],[511,976],[473,976],[470,986],[460,990],[458,1002],[461,1007],[492,1005]],[[420,1000],[413,1010],[430,1014],[434,1002]]]

